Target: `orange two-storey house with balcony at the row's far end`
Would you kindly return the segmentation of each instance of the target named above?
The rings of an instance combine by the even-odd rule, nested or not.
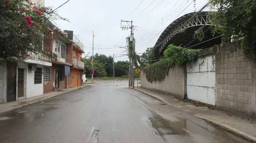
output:
[[[82,85],[82,75],[84,75],[84,62],[82,62],[82,53],[84,53],[84,45],[73,34],[73,31],[65,30],[68,39],[73,41],[73,45],[67,48],[67,62],[72,64],[70,73],[68,73],[67,88]]]

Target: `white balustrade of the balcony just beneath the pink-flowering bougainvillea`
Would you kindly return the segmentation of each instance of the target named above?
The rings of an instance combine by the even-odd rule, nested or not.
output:
[[[37,51],[37,53],[34,52],[28,52],[27,57],[32,60],[37,61],[44,61],[44,62],[52,62],[52,55],[45,53],[43,51]]]

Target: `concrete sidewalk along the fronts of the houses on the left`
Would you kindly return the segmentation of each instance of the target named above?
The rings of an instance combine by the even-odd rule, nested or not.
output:
[[[5,112],[9,112],[24,106],[28,106],[31,104],[36,104],[39,102],[42,102],[46,99],[64,94],[64,93],[68,93],[77,89],[81,89],[84,87],[87,87],[88,85],[82,85],[82,86],[76,86],[73,88],[68,88],[68,89],[63,89],[63,91],[54,91],[54,92],[49,92],[46,94],[42,94],[36,97],[31,97],[31,98],[27,98],[27,99],[22,99],[22,100],[18,100],[18,101],[13,101],[13,102],[9,102],[9,103],[3,103],[0,104],[0,114],[3,114]]]

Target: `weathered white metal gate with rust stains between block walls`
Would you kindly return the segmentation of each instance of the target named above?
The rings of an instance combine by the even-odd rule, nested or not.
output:
[[[215,56],[210,54],[187,65],[186,90],[188,99],[215,106],[215,62],[212,61]]]

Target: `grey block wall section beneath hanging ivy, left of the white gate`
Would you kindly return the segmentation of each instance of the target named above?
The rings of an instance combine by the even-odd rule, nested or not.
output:
[[[140,72],[140,87],[162,92],[166,95],[172,95],[183,98],[186,93],[186,70],[185,67],[170,68],[168,76],[164,81],[148,82],[143,70]]]

